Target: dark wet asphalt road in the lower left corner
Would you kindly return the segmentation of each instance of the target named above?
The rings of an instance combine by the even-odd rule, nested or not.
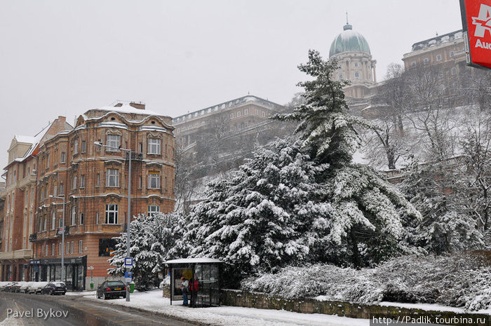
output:
[[[196,325],[76,296],[0,292],[0,326]]]

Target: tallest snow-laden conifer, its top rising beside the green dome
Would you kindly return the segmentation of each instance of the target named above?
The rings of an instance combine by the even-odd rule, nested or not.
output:
[[[339,247],[346,250],[351,264],[360,267],[408,249],[403,241],[405,225],[421,215],[382,175],[352,163],[361,144],[356,128],[371,127],[363,118],[349,114],[342,90],[347,82],[335,81],[333,76],[338,68],[336,60],[325,61],[310,50],[309,62],[299,66],[313,77],[299,83],[305,88],[306,102],[292,114],[274,118],[297,121],[302,147],[317,164],[330,165],[316,180],[323,184],[323,191],[316,194],[317,202],[324,202],[325,208],[312,224],[315,240],[311,249],[320,254]],[[321,224],[328,226],[323,228],[328,233],[315,230]]]

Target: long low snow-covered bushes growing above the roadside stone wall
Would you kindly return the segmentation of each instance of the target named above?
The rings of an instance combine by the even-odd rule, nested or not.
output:
[[[375,269],[315,264],[243,280],[243,290],[286,298],[443,304],[469,310],[491,308],[489,261],[471,254],[405,256]]]

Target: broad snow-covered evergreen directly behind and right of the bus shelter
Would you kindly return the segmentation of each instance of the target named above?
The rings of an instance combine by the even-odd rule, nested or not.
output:
[[[298,219],[311,210],[316,175],[327,165],[315,165],[300,143],[277,141],[259,149],[234,177],[209,184],[208,199],[194,206],[184,242],[191,254],[227,262],[232,278],[307,259],[308,240]]]

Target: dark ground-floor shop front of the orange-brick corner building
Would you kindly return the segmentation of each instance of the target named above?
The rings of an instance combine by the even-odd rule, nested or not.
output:
[[[61,280],[61,258],[53,259],[31,259],[32,281],[55,281]],[[65,259],[65,273],[62,282],[67,285],[67,290],[81,291],[86,287],[87,256],[70,257]]]

